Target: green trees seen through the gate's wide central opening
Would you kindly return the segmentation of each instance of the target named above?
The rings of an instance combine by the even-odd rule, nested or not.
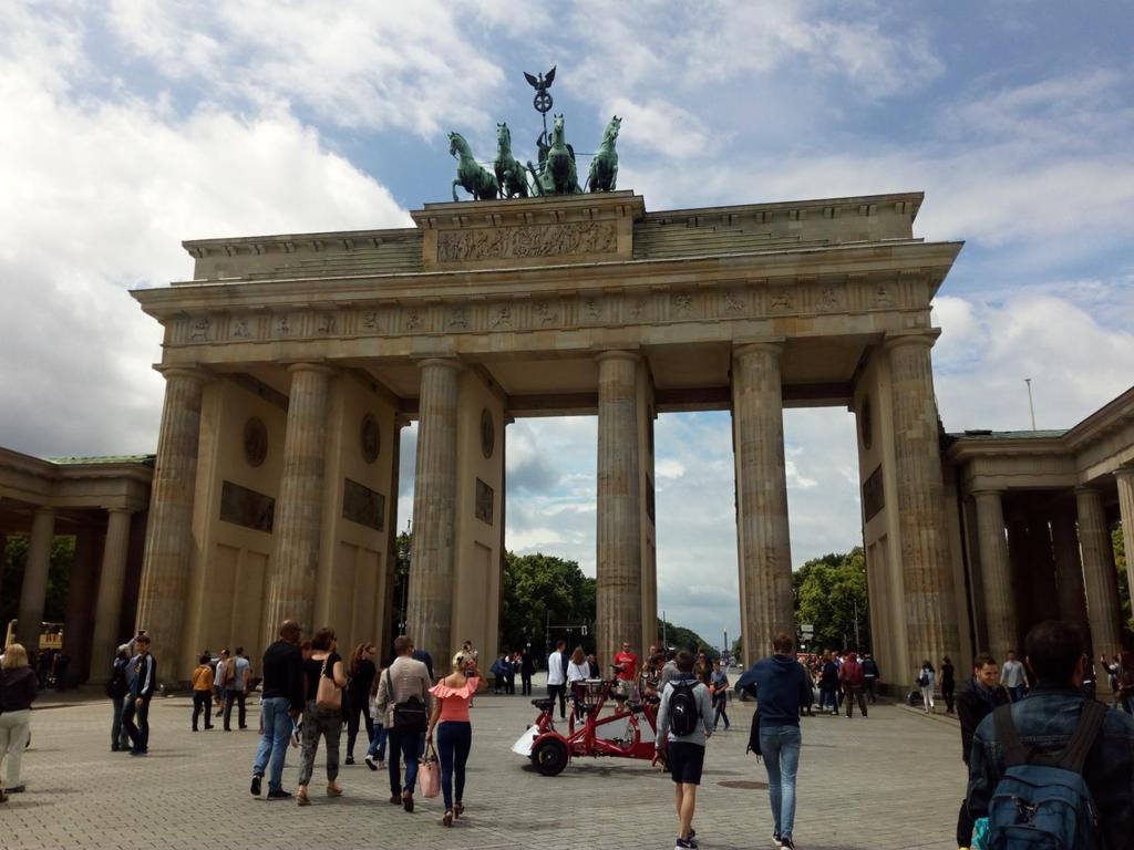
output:
[[[548,623],[555,626],[586,627],[586,637],[576,629],[568,636],[553,629],[551,640],[569,638],[569,644],[581,644],[594,649],[595,580],[583,575],[575,561],[555,555],[517,555],[505,558],[503,590],[500,596],[500,646],[503,649],[522,647],[531,641],[542,652]]]

